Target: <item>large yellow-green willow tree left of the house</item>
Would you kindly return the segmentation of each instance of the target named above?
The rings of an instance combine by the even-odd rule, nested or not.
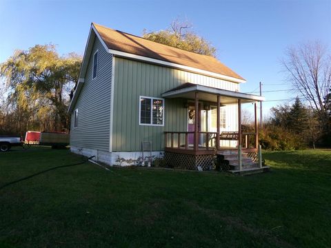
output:
[[[59,56],[54,45],[15,51],[0,65],[0,76],[9,92],[8,104],[27,112],[29,121],[42,122],[41,129],[68,128],[69,94],[78,81],[80,65],[80,56]]]

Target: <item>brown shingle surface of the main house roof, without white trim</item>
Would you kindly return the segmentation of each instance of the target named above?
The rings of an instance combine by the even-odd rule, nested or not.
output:
[[[169,45],[163,45],[148,39],[127,34],[118,30],[106,28],[97,23],[92,23],[101,39],[106,43],[109,49],[121,52],[128,52],[140,56],[146,56],[152,59],[159,59],[170,63],[177,63],[208,72],[214,72],[225,76],[231,76],[236,79],[243,79],[239,74],[232,71],[226,65],[219,62],[212,56],[196,54],[179,48],[172,48]]]

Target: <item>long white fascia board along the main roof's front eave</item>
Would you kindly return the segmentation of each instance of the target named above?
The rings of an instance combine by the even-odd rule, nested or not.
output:
[[[108,52],[110,52],[114,55],[117,55],[117,56],[125,57],[125,58],[135,59],[135,60],[139,60],[139,61],[146,61],[148,63],[154,63],[154,64],[158,64],[158,65],[165,65],[165,66],[168,66],[170,68],[178,68],[178,69],[185,70],[185,71],[188,71],[188,72],[196,72],[198,74],[212,76],[212,77],[215,77],[217,79],[232,81],[234,83],[245,83],[245,80],[243,80],[243,79],[236,79],[232,76],[225,76],[223,74],[218,74],[218,73],[215,73],[215,72],[208,72],[206,70],[192,68],[192,67],[186,66],[186,65],[179,65],[177,63],[171,63],[171,62],[168,62],[168,61],[161,61],[159,59],[152,59],[152,58],[148,58],[146,56],[130,54],[128,52],[121,52],[121,51],[118,51],[118,50],[108,49]]]

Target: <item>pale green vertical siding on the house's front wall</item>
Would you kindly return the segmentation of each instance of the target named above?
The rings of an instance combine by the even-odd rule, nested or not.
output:
[[[165,125],[139,125],[139,96],[161,97],[183,83],[197,83],[225,90],[239,90],[231,83],[210,76],[184,72],[139,61],[114,57],[114,113],[112,150],[139,151],[141,141],[152,141],[155,151],[164,149],[165,131],[187,131],[187,109],[182,99],[165,99]]]

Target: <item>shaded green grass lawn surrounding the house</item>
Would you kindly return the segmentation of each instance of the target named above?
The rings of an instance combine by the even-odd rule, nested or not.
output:
[[[253,176],[92,163],[0,189],[0,247],[331,247],[331,152],[265,152]],[[0,153],[0,185],[83,158]]]

